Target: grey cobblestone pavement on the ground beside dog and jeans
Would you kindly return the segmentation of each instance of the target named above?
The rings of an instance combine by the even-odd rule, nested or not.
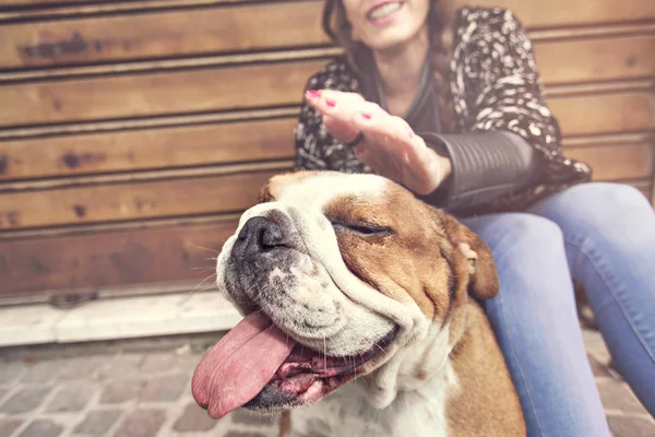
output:
[[[599,334],[585,344],[610,426],[619,437],[655,436],[655,421],[606,363]],[[276,435],[277,418],[236,411],[211,420],[190,379],[215,336],[0,350],[0,437]]]

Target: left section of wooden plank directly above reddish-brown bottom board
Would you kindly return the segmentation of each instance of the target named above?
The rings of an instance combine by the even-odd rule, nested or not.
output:
[[[269,172],[0,194],[0,231],[242,211]]]

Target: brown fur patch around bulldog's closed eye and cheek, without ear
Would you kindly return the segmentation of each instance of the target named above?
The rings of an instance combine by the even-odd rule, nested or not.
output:
[[[398,302],[410,297],[426,317],[437,321],[446,315],[449,296],[432,291],[449,288],[450,267],[448,260],[434,257],[434,251],[439,252],[440,246],[451,250],[451,245],[439,221],[433,220],[434,210],[403,208],[416,202],[408,191],[390,190],[389,194],[368,201],[335,199],[324,213],[340,222],[392,228],[393,235],[366,239],[337,233],[344,261],[353,273],[380,293]],[[376,211],[376,218],[371,217],[371,211]]]

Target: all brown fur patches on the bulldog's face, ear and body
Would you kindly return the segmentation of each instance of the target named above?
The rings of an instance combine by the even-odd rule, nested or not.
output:
[[[276,177],[261,199],[273,200],[284,185],[311,175]],[[392,229],[388,235],[361,236],[337,226],[346,265],[380,293],[401,303],[414,300],[433,323],[450,323],[450,358],[460,386],[446,404],[451,435],[524,436],[523,413],[500,347],[484,310],[469,298],[488,299],[498,293],[488,246],[454,217],[398,185],[390,181],[384,193],[342,197],[325,205],[323,213],[334,223]],[[430,378],[424,367],[419,364],[415,370],[421,380]],[[290,428],[288,421],[284,429]]]

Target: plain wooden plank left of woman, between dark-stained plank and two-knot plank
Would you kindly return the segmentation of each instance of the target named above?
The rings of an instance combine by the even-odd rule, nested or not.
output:
[[[0,126],[299,103],[324,61],[271,63],[0,86]]]

